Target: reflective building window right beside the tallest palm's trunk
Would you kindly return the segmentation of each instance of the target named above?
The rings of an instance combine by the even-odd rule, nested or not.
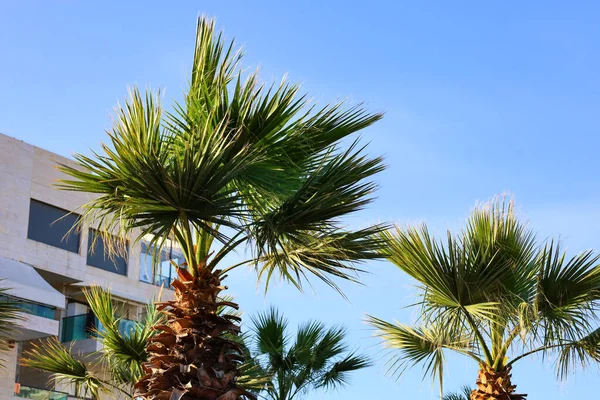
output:
[[[167,240],[160,253],[147,240],[142,240],[140,281],[156,286],[171,286],[177,277],[177,266],[185,262],[183,252]]]

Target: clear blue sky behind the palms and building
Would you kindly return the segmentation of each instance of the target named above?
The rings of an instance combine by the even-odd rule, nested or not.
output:
[[[195,19],[206,13],[266,80],[287,73],[320,101],[385,111],[363,137],[389,169],[359,223],[455,229],[476,201],[510,191],[541,238],[560,236],[571,251],[600,247],[595,2],[91,3],[0,3],[0,132],[63,155],[97,149],[128,85],[180,96]],[[377,360],[349,389],[312,400],[435,398],[418,369],[399,382],[384,376],[362,319],[411,322],[402,307],[414,301],[412,282],[384,262],[368,269],[365,287],[344,285],[350,302],[320,285],[305,294],[279,285],[264,297],[251,271],[229,285],[247,313],[276,304],[293,323],[345,324],[352,345]],[[469,360],[450,358],[448,389],[474,379]],[[551,361],[535,358],[514,370],[531,399],[594,396],[592,379],[597,370],[557,383]]]

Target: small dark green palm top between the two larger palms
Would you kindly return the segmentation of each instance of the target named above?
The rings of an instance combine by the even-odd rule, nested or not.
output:
[[[287,320],[274,308],[252,318],[252,325],[246,344],[255,366],[271,377],[263,394],[267,399],[292,400],[312,390],[339,388],[348,383],[349,373],[370,365],[348,351],[343,328],[310,321],[298,328],[292,343]]]

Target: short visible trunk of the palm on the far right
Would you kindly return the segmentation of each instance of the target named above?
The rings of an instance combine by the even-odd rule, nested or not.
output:
[[[471,400],[525,400],[526,394],[514,393],[516,385],[510,381],[511,367],[494,371],[481,365],[477,377],[477,389],[471,392]]]

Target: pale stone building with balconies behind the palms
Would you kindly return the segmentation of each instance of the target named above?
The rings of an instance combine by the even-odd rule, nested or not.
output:
[[[78,217],[70,212],[90,197],[53,187],[62,177],[60,163],[72,161],[0,134],[0,285],[11,288],[10,298],[0,301],[18,302],[26,314],[10,353],[0,355],[7,361],[0,400],[72,398],[68,388],[53,388],[46,374],[19,366],[19,356],[32,341],[53,335],[82,354],[100,349],[89,331],[94,316],[82,288],[110,288],[124,306],[123,317],[136,320],[174,274],[168,261],[152,268],[143,242],[130,246],[127,257],[111,259],[101,240],[89,251],[92,230],[65,237]],[[163,259],[169,257],[182,258],[173,252]],[[163,299],[170,296],[163,291]]]

